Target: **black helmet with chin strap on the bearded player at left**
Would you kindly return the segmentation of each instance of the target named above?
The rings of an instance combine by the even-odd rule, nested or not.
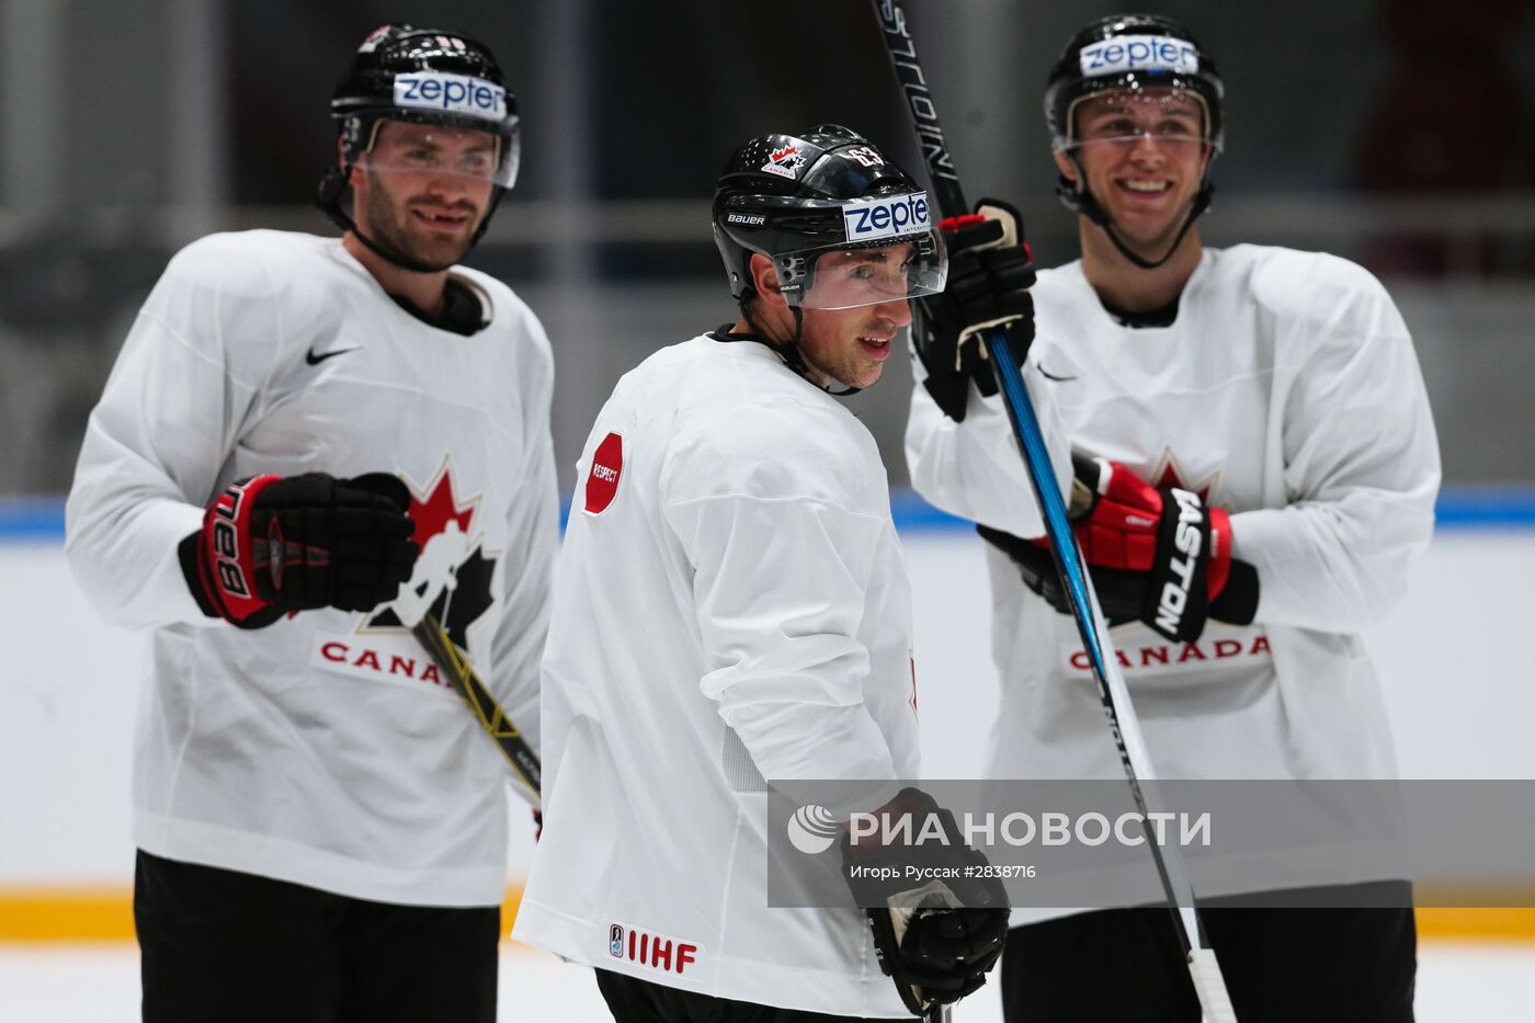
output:
[[[496,138],[493,158],[473,170],[494,186],[474,241],[485,233],[502,194],[517,180],[522,157],[517,98],[490,48],[462,32],[410,25],[373,29],[336,84],[330,115],[341,138],[342,166],[325,172],[316,204],[342,230],[356,232],[341,204],[347,177],[353,166],[367,164],[382,121],[465,127]],[[382,252],[375,241],[358,237],[407,269],[434,269],[414,266],[402,253]]]

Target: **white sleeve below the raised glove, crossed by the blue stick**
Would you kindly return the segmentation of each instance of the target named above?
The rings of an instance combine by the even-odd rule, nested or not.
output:
[[[1045,531],[1022,452],[1001,395],[982,398],[969,389],[964,422],[942,413],[923,386],[927,373],[912,359],[912,412],[906,424],[906,462],[912,487],[929,504],[1015,536]],[[1071,488],[1071,444],[1038,370],[1024,367],[1024,386],[1044,430],[1050,464],[1062,495]]]

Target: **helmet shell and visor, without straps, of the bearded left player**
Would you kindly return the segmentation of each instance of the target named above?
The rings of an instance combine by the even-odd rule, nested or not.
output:
[[[517,101],[490,49],[459,32],[385,25],[358,48],[330,104],[342,158],[382,172],[451,174],[510,189],[517,180]],[[441,126],[381,154],[387,121]],[[451,137],[450,137],[451,135]]]

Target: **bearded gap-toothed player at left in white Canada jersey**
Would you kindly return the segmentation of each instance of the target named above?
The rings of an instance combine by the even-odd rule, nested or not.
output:
[[[516,100],[482,43],[391,25],[332,111],[321,204],[344,237],[181,250],[68,504],[81,587],[152,630],[134,899],[154,1023],[496,1017],[507,770],[391,602],[434,610],[537,736],[550,344],[456,266],[516,178]]]

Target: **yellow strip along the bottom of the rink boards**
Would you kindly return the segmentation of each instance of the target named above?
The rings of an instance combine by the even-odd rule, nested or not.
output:
[[[522,885],[508,885],[500,906],[502,937],[522,903]],[[1420,908],[1418,937],[1429,942],[1535,942],[1535,908]],[[132,942],[129,888],[0,886],[0,943]]]

